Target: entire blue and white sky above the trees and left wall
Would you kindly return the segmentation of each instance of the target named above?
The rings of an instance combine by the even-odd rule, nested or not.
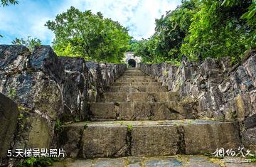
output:
[[[40,38],[51,45],[54,34],[44,26],[70,6],[80,11],[101,11],[103,16],[119,21],[129,28],[136,39],[149,38],[154,33],[154,20],[166,11],[176,9],[181,0],[19,0],[18,5],[0,7],[0,44],[11,44],[16,37]]]

